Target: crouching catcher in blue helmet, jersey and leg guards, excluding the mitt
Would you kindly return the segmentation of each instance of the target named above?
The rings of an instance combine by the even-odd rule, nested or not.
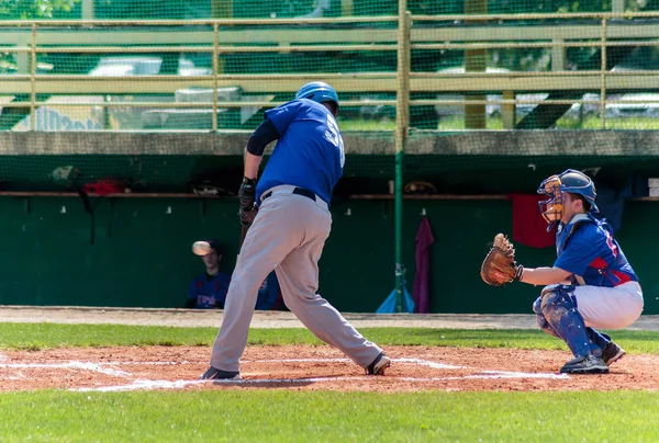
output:
[[[592,215],[599,209],[595,186],[588,175],[568,169],[543,181],[538,193],[548,196],[540,202],[548,229],[558,224],[558,259],[551,268],[512,264],[507,281],[545,286],[533,304],[538,326],[563,340],[574,354],[561,373],[608,373],[608,366],[625,351],[593,328],[622,329],[638,319],[644,307],[638,277],[611,226]],[[488,258],[484,268],[487,262]],[[503,271],[484,269],[483,280],[496,280]]]

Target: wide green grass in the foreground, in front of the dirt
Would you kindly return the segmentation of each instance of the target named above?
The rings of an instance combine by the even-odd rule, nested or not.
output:
[[[2,441],[657,441],[659,394],[36,391],[0,395]]]

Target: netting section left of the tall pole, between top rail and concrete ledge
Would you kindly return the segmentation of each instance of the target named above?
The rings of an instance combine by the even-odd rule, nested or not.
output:
[[[265,110],[291,100],[305,81],[315,79],[337,89],[345,102],[340,118],[347,129],[392,129],[394,26],[394,21],[236,24],[219,26],[214,45],[209,24],[40,25],[34,82],[30,27],[5,27],[0,32],[19,47],[8,45],[11,52],[0,65],[10,81],[0,88],[0,104],[25,106],[5,107],[0,129],[247,130],[263,121]],[[373,27],[381,31],[382,50],[370,47]],[[33,83],[40,92],[34,122],[30,115]]]

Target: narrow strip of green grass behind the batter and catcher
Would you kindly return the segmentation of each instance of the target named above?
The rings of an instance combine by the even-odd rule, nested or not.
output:
[[[456,330],[429,328],[360,328],[369,340],[387,345],[567,349],[539,329]],[[629,353],[659,353],[659,332],[612,331]],[[122,325],[0,323],[0,349],[116,345],[211,345],[217,328],[171,328]],[[249,344],[322,344],[306,329],[252,329]]]

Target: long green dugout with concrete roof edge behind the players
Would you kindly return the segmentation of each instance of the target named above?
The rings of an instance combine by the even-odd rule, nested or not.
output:
[[[549,136],[551,135],[551,136]],[[247,134],[4,133],[0,138],[0,304],[180,307],[201,270],[192,241],[226,242],[224,270],[237,252],[236,201]],[[425,214],[432,247],[433,313],[529,313],[539,288],[487,286],[479,276],[494,234],[511,232],[512,192],[534,193],[551,173],[599,168],[597,184],[619,188],[629,174],[659,175],[655,132],[414,132],[405,182],[432,182],[437,193],[406,194],[403,263],[415,273],[415,236]],[[321,261],[320,293],[344,311],[375,311],[394,284],[394,202],[390,133],[346,133],[344,179]],[[94,152],[94,154],[92,154]],[[68,170],[71,175],[54,177]],[[64,169],[63,169],[64,168]],[[70,171],[69,171],[70,172]],[[79,188],[121,178],[131,193],[103,197]],[[213,178],[221,196],[192,186]],[[210,182],[206,182],[206,184]],[[233,188],[232,188],[233,186]],[[88,190],[93,190],[89,189]],[[657,314],[654,272],[656,198],[625,202],[617,232]],[[517,246],[529,266],[550,263],[552,248]]]

